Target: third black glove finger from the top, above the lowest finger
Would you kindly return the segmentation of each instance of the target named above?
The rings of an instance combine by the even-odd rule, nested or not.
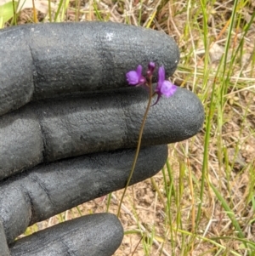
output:
[[[8,243],[32,225],[82,202],[122,189],[134,150],[80,156],[41,165],[0,183],[0,220]],[[131,184],[155,175],[167,145],[142,149]]]

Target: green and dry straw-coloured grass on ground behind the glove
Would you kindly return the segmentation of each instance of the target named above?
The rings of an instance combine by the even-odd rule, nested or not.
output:
[[[59,1],[56,8],[49,3],[38,20],[112,20],[165,31],[181,51],[173,81],[197,94],[205,108],[201,133],[169,145],[161,173],[128,188],[121,217],[125,243],[116,255],[127,249],[133,255],[255,255],[252,2],[133,2],[89,1],[85,9],[78,0]],[[0,7],[0,26],[37,21],[34,15],[24,20],[24,10],[14,14],[13,8],[8,4],[3,12]],[[53,222],[97,211],[116,213],[121,195],[117,191],[106,202],[88,202]],[[36,230],[32,226],[26,235]]]

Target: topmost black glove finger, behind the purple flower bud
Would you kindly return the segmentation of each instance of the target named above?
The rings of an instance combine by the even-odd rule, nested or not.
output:
[[[0,31],[0,45],[0,115],[55,94],[125,87],[126,72],[150,61],[170,76],[179,59],[166,34],[113,22],[15,26]]]

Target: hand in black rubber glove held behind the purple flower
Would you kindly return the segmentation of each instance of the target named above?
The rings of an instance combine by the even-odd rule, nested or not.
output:
[[[125,186],[148,100],[125,74],[150,61],[173,74],[176,44],[115,23],[26,25],[0,31],[0,56],[0,255],[111,255],[123,230],[110,213],[14,239]],[[196,134],[203,118],[184,88],[152,106],[131,184],[156,174],[167,144]]]

